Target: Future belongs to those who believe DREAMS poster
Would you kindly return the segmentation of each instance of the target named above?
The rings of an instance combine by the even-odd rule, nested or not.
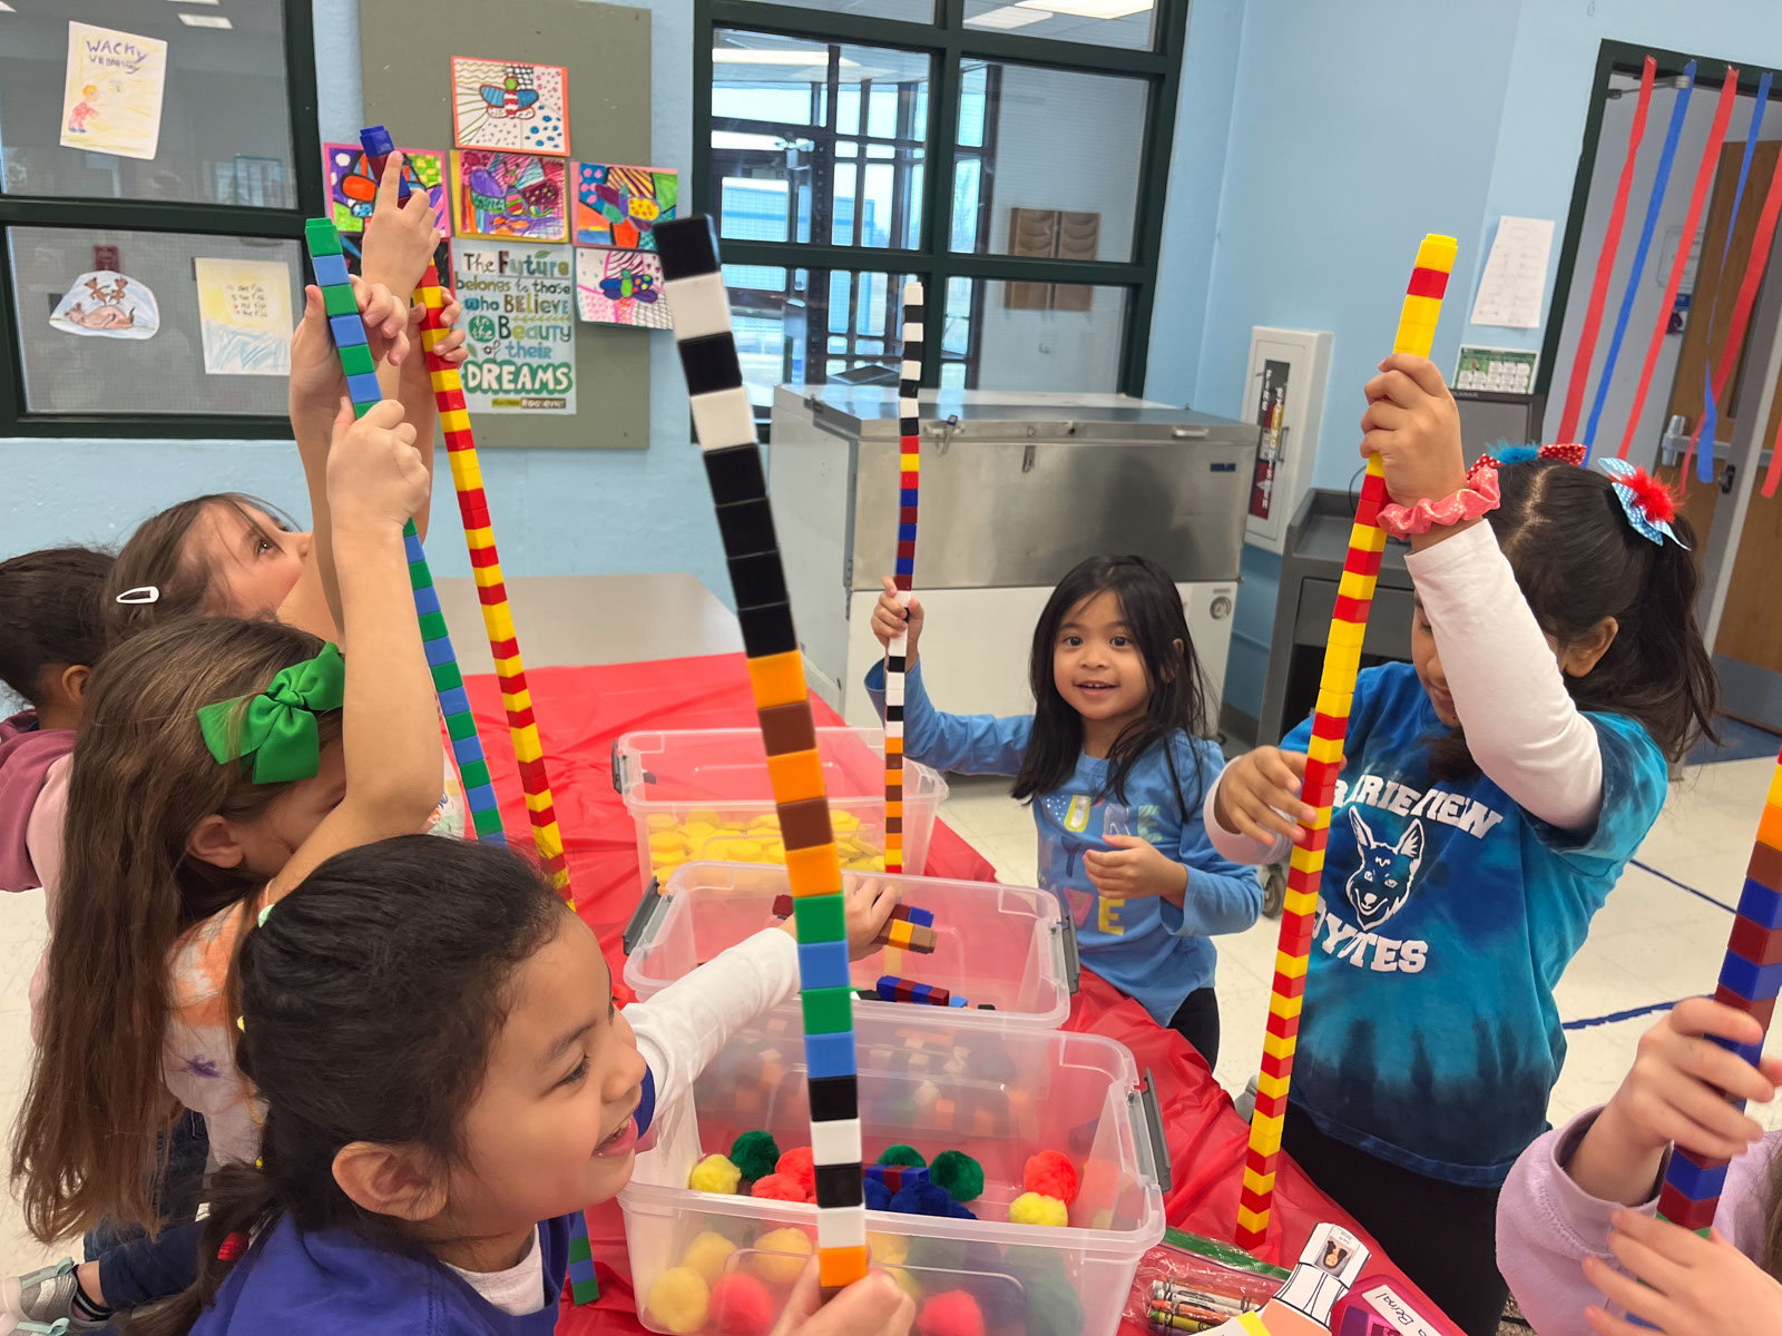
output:
[[[568,246],[460,240],[453,276],[472,413],[576,411],[576,258]]]

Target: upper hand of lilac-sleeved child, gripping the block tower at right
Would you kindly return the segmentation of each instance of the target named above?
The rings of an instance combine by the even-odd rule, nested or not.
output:
[[[1670,1015],[1639,1037],[1638,1056],[1622,1088],[1597,1115],[1625,1158],[1652,1154],[1670,1144],[1691,1154],[1725,1160],[1764,1135],[1755,1119],[1727,1103],[1727,1096],[1770,1103],[1782,1085],[1782,1058],[1761,1058],[1753,1067],[1709,1037],[1753,1044],[1762,1028],[1745,1012],[1709,998],[1686,998]],[[1723,1094],[1725,1092],[1725,1094]]]

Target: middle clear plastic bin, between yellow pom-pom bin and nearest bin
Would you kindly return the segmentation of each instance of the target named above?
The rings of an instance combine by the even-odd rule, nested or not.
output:
[[[882,974],[916,980],[964,998],[966,1017],[1000,1017],[1007,1026],[1057,1030],[1076,992],[1076,933],[1046,891],[937,876],[843,873],[898,889],[898,903],[934,914],[932,953],[875,951],[854,962],[854,987]],[[625,930],[625,983],[650,998],[718,951],[779,923],[773,901],[789,894],[782,868],[686,862],[647,894]],[[977,1010],[987,1003],[994,1010]],[[857,1001],[855,1015],[907,1017],[920,1003]],[[960,1017],[955,1017],[960,1019]]]

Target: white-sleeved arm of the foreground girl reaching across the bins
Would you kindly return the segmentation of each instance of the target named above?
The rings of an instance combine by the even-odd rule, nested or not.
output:
[[[848,955],[859,960],[896,908],[896,891],[884,882],[854,880],[845,887]],[[656,1078],[658,1106],[688,1090],[718,1049],[759,1015],[798,992],[798,942],[788,919],[720,951],[645,1003],[625,1008],[638,1051]]]

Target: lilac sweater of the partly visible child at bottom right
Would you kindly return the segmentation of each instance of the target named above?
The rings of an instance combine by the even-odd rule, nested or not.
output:
[[[1602,1293],[1584,1279],[1584,1258],[1609,1256],[1609,1220],[1622,1210],[1586,1193],[1566,1165],[1600,1110],[1579,1113],[1565,1128],[1522,1153],[1497,1199],[1497,1268],[1509,1281],[1522,1315],[1541,1336],[1593,1336],[1584,1309]],[[1782,1133],[1770,1133],[1732,1161],[1714,1226],[1746,1258],[1764,1247],[1770,1181]],[[1657,1211],[1657,1188],[1638,1210]]]

